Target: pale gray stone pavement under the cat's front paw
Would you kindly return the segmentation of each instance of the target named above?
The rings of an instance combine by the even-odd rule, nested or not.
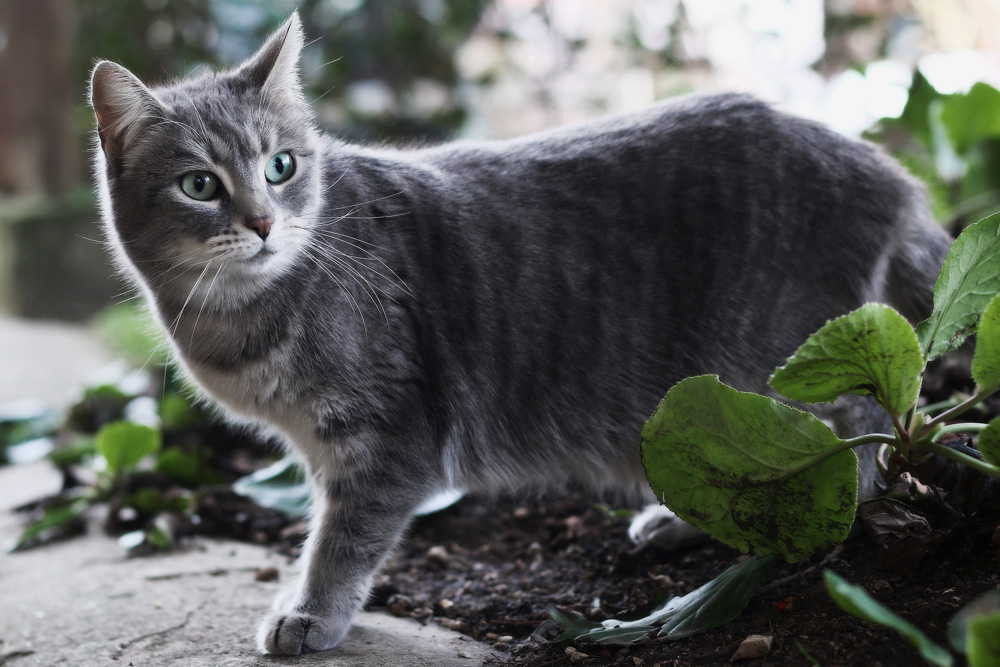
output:
[[[16,346],[11,341],[17,341]],[[69,399],[107,359],[80,330],[0,318],[0,397]],[[61,366],[73,363],[72,371]],[[31,393],[9,373],[36,378]],[[42,379],[44,378],[44,379]],[[46,388],[46,383],[49,387]],[[20,530],[10,508],[59,488],[46,462],[0,467],[0,545]],[[0,667],[474,667],[500,664],[483,645],[436,625],[361,614],[334,651],[297,658],[257,655],[253,637],[294,566],[267,549],[198,540],[187,550],[126,558],[99,530],[23,553],[0,553]],[[275,567],[276,582],[256,581]]]

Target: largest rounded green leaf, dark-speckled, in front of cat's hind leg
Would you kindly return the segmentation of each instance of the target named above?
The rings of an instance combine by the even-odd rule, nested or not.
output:
[[[798,561],[854,521],[857,457],[842,445],[813,415],[702,375],[676,384],[646,422],[642,462],[685,521],[740,551]]]

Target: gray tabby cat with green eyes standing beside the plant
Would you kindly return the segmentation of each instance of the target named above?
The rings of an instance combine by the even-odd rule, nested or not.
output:
[[[949,246],[874,147],[686,97],[513,141],[321,134],[292,16],[233,71],[98,63],[106,233],[178,362],[314,482],[262,651],[336,646],[443,489],[650,498],[639,431],[689,375],[763,390],[828,319],[919,319]]]

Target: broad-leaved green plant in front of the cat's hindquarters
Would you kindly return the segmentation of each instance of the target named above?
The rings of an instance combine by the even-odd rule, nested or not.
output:
[[[678,516],[743,552],[788,561],[842,541],[856,503],[856,457],[884,443],[919,462],[938,454],[1000,477],[1000,418],[949,424],[1000,389],[1000,215],[970,226],[949,252],[934,310],[916,330],[895,310],[867,304],[828,322],[771,376],[788,399],[870,395],[892,433],[842,439],[808,412],[727,387],[716,376],[675,385],[646,423],[642,456],[653,490]],[[927,362],[978,332],[972,396],[936,415],[916,407]],[[981,433],[982,458],[941,444]],[[795,499],[795,502],[788,502]]]

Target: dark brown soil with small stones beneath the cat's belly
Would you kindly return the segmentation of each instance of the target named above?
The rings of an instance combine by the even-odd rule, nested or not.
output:
[[[933,507],[921,514],[942,539],[905,573],[880,567],[885,549],[861,535],[807,562],[779,566],[726,626],[677,642],[580,645],[567,654],[566,645],[532,639],[548,607],[594,620],[636,618],[663,595],[713,579],[740,555],[715,542],[671,555],[637,548],[628,519],[578,497],[529,504],[467,499],[417,521],[377,579],[369,606],[466,633],[519,665],[723,664],[752,634],[773,637],[771,650],[743,664],[919,664],[893,632],[836,607],[822,572],[864,586],[946,645],[952,614],[1000,583],[1000,517],[956,521]]]

